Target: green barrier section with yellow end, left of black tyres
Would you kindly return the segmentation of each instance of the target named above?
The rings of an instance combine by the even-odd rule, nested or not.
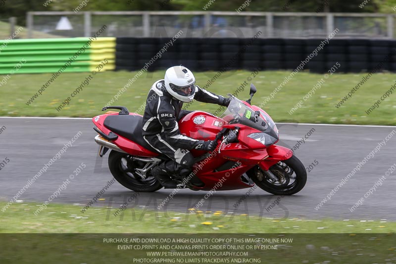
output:
[[[115,68],[115,38],[61,38],[0,41],[0,74],[92,71],[103,60],[102,70]],[[65,65],[66,64],[66,65]]]

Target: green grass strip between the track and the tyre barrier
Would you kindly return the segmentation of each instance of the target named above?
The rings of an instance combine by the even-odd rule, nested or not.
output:
[[[163,78],[163,73],[163,71],[144,73],[113,105],[127,106],[131,112],[137,111],[146,101],[152,83]],[[125,71],[99,73],[94,76],[88,87],[83,88],[83,91],[72,98],[70,104],[59,112],[55,108],[85,80],[87,73],[62,73],[30,106],[25,103],[42,87],[51,74],[10,75],[8,82],[2,86],[0,115],[93,117],[102,113],[101,107],[107,104],[135,74],[136,72]],[[203,87],[214,74],[215,72],[197,72],[197,84]],[[252,104],[259,106],[289,74],[288,71],[259,72],[252,79],[258,89]],[[290,115],[288,111],[302,100],[319,79],[323,78],[321,74],[300,72],[264,106],[264,109],[275,122],[395,125],[395,95],[383,101],[370,115],[365,113],[365,110],[390,89],[394,83],[394,74],[374,74],[342,107],[335,107],[363,75],[331,75],[301,108]],[[217,79],[208,90],[220,95],[234,93],[249,76],[251,76],[250,72],[241,70],[224,73],[223,78]],[[1,78],[2,76],[0,81]],[[239,98],[243,100],[247,97],[248,87],[239,94]],[[217,105],[200,102],[195,102],[189,107],[189,109],[212,112],[217,108]]]

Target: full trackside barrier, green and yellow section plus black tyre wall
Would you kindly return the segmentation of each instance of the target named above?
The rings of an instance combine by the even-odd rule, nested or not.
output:
[[[185,65],[195,71],[234,69],[304,70],[322,73],[337,62],[338,72],[396,72],[394,40],[179,38],[155,56],[169,38],[65,38],[0,41],[0,74],[92,71],[103,60],[104,70],[149,71]],[[322,48],[318,47],[322,44]],[[314,51],[317,51],[313,53]],[[155,57],[154,57],[155,56]]]

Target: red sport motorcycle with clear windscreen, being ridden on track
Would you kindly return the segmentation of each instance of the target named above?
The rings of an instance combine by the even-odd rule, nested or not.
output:
[[[236,190],[256,184],[275,195],[292,195],[306,183],[306,170],[290,149],[277,146],[279,131],[272,118],[261,108],[250,105],[256,92],[250,86],[250,99],[241,101],[232,95],[230,105],[220,116],[193,111],[179,120],[183,135],[198,140],[218,140],[213,152],[191,150],[195,164],[193,172],[204,186],[191,185],[178,175],[170,175],[180,188],[209,191]],[[155,153],[142,136],[142,115],[130,113],[124,106],[95,116],[96,143],[99,156],[110,149],[108,166],[114,178],[123,186],[138,192],[153,192],[162,188],[150,170],[169,159]]]

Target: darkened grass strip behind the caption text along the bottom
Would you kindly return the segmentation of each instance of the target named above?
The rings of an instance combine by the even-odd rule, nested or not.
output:
[[[2,234],[0,240],[0,261],[6,264],[20,263],[142,263],[139,259],[151,260],[152,263],[274,263],[274,264],[301,264],[301,263],[394,263],[396,260],[395,235],[339,235],[339,234]],[[107,242],[109,239],[123,238],[128,242]],[[133,242],[131,239],[170,239],[171,242]],[[282,238],[293,239],[289,243],[195,243],[172,242],[173,239],[251,239]],[[135,240],[136,241],[136,240]],[[194,240],[193,240],[194,241]],[[241,240],[240,240],[241,241]],[[277,244],[277,249],[265,250],[252,247]],[[172,250],[171,246],[243,246],[240,250],[226,250],[212,248],[209,250]],[[119,246],[141,246],[151,249],[122,249]],[[164,249],[169,246],[169,249]],[[247,246],[250,246],[247,248]],[[161,249],[162,247],[162,249]],[[246,257],[151,257],[148,253],[247,253]],[[165,255],[166,256],[166,255]],[[168,255],[172,256],[172,255]],[[188,255],[187,255],[188,256]],[[162,259],[155,262],[155,259]],[[166,261],[166,260],[173,261]],[[185,261],[180,261],[184,259]],[[190,260],[190,261],[187,261]],[[221,262],[223,260],[223,262]],[[227,261],[228,260],[228,261]],[[250,262],[249,262],[250,260]],[[258,262],[260,261],[260,262]],[[151,263],[150,261],[146,263]]]

